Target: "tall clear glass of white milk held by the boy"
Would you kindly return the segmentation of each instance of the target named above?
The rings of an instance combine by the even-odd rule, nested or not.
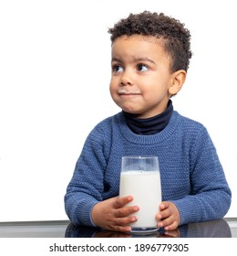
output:
[[[156,214],[161,202],[158,156],[123,156],[119,197],[132,196],[126,206],[139,206],[132,215],[138,220],[130,224],[131,232],[150,232],[158,229]]]

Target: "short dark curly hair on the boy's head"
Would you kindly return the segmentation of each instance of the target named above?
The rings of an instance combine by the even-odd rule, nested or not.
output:
[[[170,70],[187,71],[191,59],[191,34],[179,20],[163,13],[144,11],[140,14],[130,14],[108,29],[111,42],[121,36],[141,35],[157,37],[163,40],[163,47],[170,55]]]

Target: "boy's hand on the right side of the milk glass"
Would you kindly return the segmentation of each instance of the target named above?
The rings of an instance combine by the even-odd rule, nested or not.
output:
[[[177,229],[180,224],[180,213],[175,204],[164,201],[160,204],[160,212],[157,214],[158,227],[166,231]]]

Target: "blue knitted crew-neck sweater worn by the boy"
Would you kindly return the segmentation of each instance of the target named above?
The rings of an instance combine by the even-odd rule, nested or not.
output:
[[[180,211],[180,224],[222,219],[232,193],[206,128],[178,112],[152,135],[132,133],[122,112],[108,117],[88,134],[65,195],[68,218],[93,226],[91,210],[118,196],[121,157],[157,155],[162,200]]]

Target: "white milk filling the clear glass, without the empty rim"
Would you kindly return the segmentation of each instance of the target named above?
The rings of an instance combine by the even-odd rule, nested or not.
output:
[[[127,206],[139,206],[139,211],[132,214],[138,220],[132,228],[156,228],[156,214],[161,202],[160,172],[128,171],[120,174],[119,196],[132,196],[134,199]]]

